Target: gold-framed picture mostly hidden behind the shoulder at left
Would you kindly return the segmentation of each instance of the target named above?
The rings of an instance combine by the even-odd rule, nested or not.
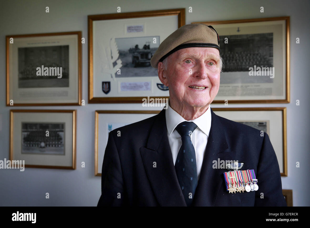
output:
[[[102,162],[110,131],[152,117],[160,111],[95,111],[95,176],[101,176]]]

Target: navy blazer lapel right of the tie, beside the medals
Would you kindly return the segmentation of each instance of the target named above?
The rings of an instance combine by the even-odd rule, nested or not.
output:
[[[193,206],[214,206],[219,188],[223,182],[223,169],[213,169],[213,161],[228,149],[227,141],[219,117],[211,109],[211,128],[202,162]],[[226,152],[227,153],[227,152]],[[229,153],[230,154],[230,153]]]

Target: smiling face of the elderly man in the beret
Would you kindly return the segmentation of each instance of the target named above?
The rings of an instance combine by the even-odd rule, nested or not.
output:
[[[158,70],[158,75],[162,83],[169,86],[170,100],[179,107],[208,106],[219,91],[219,50],[213,47],[188,47],[174,52],[168,58],[167,70]],[[161,65],[158,65],[158,69]]]

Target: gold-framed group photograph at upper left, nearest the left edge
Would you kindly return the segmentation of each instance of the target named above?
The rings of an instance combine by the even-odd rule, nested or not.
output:
[[[82,32],[6,36],[7,106],[81,105]]]

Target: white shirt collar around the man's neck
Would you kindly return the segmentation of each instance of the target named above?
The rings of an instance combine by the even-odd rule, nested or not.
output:
[[[173,110],[170,107],[170,98],[168,99],[168,102],[166,105],[167,105],[166,125],[167,125],[167,132],[169,136],[172,134],[175,127],[178,126],[179,123],[188,121],[188,122],[194,122],[197,125],[197,127],[199,127],[199,129],[209,137],[210,128],[211,128],[210,105],[204,114],[202,114],[201,116],[193,120],[185,120],[180,114],[178,114],[175,110]]]

